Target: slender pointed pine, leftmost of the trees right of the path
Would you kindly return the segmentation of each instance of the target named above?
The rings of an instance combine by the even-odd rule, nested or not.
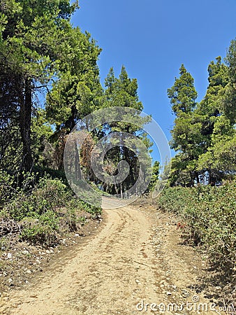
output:
[[[172,181],[178,179],[184,186],[193,186],[195,181],[199,182],[196,161],[202,153],[201,124],[198,115],[194,114],[197,92],[193,82],[193,77],[182,64],[179,78],[175,78],[174,85],[168,89],[172,111],[177,116],[171,131],[171,146],[178,152],[172,162]]]

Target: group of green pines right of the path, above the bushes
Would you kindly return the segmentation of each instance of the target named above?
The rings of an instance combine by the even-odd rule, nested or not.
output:
[[[210,62],[209,85],[199,104],[194,103],[193,78],[184,66],[175,84],[168,89],[172,110],[177,116],[170,142],[177,151],[172,160],[172,186],[196,183],[214,186],[235,174],[235,47],[232,41],[226,64],[221,62],[221,57]]]

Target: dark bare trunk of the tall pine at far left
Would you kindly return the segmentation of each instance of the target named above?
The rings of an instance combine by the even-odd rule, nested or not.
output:
[[[33,158],[31,152],[31,113],[32,113],[32,87],[31,79],[25,80],[24,99],[20,106],[20,134],[22,137],[22,164],[21,170],[31,172]]]

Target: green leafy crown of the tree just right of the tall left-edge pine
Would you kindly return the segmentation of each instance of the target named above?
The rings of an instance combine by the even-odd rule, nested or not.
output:
[[[96,64],[101,49],[89,33],[68,30],[67,53],[60,64],[58,80],[47,93],[47,119],[57,131],[71,131],[79,119],[100,106],[102,87]]]

